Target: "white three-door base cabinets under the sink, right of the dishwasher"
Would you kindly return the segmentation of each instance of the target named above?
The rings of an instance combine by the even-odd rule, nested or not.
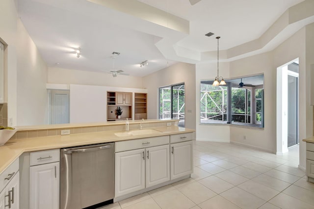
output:
[[[178,143],[169,145],[171,140]],[[115,198],[188,176],[193,172],[192,149],[190,133],[116,142]]]

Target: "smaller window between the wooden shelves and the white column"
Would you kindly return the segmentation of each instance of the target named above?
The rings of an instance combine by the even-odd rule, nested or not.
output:
[[[159,88],[159,119],[179,119],[184,126],[184,84]]]

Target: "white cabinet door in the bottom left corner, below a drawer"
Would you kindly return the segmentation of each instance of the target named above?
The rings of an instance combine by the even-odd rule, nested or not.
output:
[[[5,193],[11,193],[11,209],[20,208],[20,173],[17,172],[13,179],[6,185]],[[6,198],[7,199],[7,198]],[[8,200],[8,199],[7,199]],[[9,207],[7,207],[9,208]]]

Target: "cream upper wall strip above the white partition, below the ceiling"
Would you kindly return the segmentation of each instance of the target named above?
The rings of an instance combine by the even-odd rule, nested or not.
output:
[[[49,68],[48,83],[142,88],[142,78],[140,77],[118,75],[113,78],[112,75],[105,72],[97,73],[64,68]]]

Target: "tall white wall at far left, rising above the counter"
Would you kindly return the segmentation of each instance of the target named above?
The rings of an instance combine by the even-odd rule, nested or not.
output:
[[[47,123],[46,64],[18,18],[15,1],[0,1],[0,39],[5,54],[5,102],[12,126]]]

